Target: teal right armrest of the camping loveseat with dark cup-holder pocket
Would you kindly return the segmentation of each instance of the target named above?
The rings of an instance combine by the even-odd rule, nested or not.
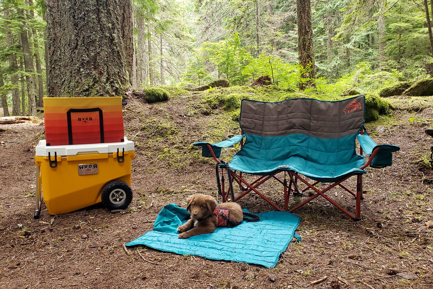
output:
[[[377,145],[374,140],[368,134],[359,134],[357,136],[359,144],[362,147],[362,150],[364,150],[364,153],[367,155],[371,155],[372,152],[379,148],[376,155],[373,157],[372,162],[370,163],[370,166],[372,168],[381,169],[385,168],[386,166],[392,165],[392,153],[400,150],[399,146],[389,145],[389,144],[382,144]]]

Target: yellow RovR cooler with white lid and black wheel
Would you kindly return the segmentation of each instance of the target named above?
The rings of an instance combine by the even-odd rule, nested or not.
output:
[[[36,146],[39,219],[42,192],[50,214],[75,211],[102,201],[110,210],[124,209],[132,201],[131,161],[134,143],[95,143]]]

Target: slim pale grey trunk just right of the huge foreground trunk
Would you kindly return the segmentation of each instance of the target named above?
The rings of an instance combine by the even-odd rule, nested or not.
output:
[[[137,26],[137,83],[140,86],[147,86],[147,43],[146,43],[146,23],[144,16],[136,12]]]

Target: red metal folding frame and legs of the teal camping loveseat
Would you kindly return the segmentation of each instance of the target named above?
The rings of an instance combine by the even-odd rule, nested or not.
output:
[[[361,134],[362,133],[363,132],[361,131]],[[241,140],[241,148],[242,148],[242,146],[243,146],[243,139]],[[209,148],[210,153],[211,153],[213,159],[215,159],[215,161],[217,163],[222,163],[222,161],[215,156],[215,153],[213,153],[212,146],[207,145],[207,147]],[[359,169],[365,169],[366,167],[368,167],[370,165],[370,163],[372,162],[373,158],[375,157],[376,153],[378,152],[378,150],[379,150],[379,148],[376,148],[372,152],[372,154],[370,155],[370,157],[369,157],[368,161],[365,163],[365,165],[362,166],[362,167],[360,167]],[[361,155],[363,154],[362,148],[360,148],[360,154]],[[284,180],[283,181],[281,181],[281,179],[279,179],[276,176],[280,172],[284,172]],[[315,185],[317,185],[318,183],[320,183],[320,181],[316,181],[316,182],[313,182],[312,184],[310,184],[303,177],[301,177],[297,172],[290,171],[290,170],[289,171],[276,170],[275,172],[272,172],[271,175],[262,175],[262,176],[260,176],[258,179],[256,179],[252,183],[249,183],[245,179],[242,178],[242,172],[239,172],[239,174],[237,174],[236,171],[230,169],[230,174],[231,174],[231,178],[236,183],[238,183],[239,188],[241,188],[244,191],[237,198],[235,198],[234,201],[239,200],[240,198],[242,198],[243,196],[245,196],[249,192],[255,192],[257,195],[259,195],[260,197],[262,197],[265,201],[267,201],[275,209],[277,209],[278,211],[283,211],[280,207],[278,207],[278,205],[276,205],[273,201],[271,201],[268,198],[266,198],[265,195],[263,195],[261,192],[259,192],[257,190],[257,188],[259,187],[259,185],[262,185],[267,180],[269,180],[269,179],[275,179],[278,182],[280,182],[283,185],[283,187],[284,187],[284,211],[293,212],[293,211],[297,210],[298,208],[302,207],[303,205],[307,204],[309,201],[312,201],[313,199],[317,198],[318,196],[322,196],[327,201],[329,201],[332,205],[336,206],[341,211],[343,211],[343,213],[347,214],[354,221],[361,220],[361,199],[363,198],[362,197],[362,173],[353,173],[353,174],[347,175],[343,179],[341,179],[341,180],[339,180],[337,182],[334,182],[333,184],[327,186],[323,190],[319,190],[318,188],[315,187]],[[287,185],[286,174],[288,174],[288,176],[289,176],[289,185]],[[356,193],[352,192],[345,185],[341,184],[342,182],[346,181],[347,179],[349,179],[350,177],[352,177],[354,175],[356,175],[356,177],[357,177],[357,180],[356,180]],[[302,183],[304,183],[305,185],[307,185],[307,187],[305,187],[304,189],[302,189],[300,191],[299,188],[298,188],[298,185],[297,185],[297,181],[298,180],[300,180]],[[344,208],[342,208],[340,205],[338,205],[335,201],[333,201],[327,195],[325,195],[325,192],[329,191],[331,188],[336,187],[337,185],[340,186],[341,188],[343,188],[345,191],[349,192],[351,195],[355,196],[355,199],[356,199],[355,216],[352,215],[351,213],[349,213],[348,211],[346,211]],[[292,186],[294,188],[292,188]],[[306,192],[309,189],[312,189],[314,192],[316,192],[316,194],[313,195],[313,196],[311,196],[310,198],[307,198],[301,204],[296,205],[295,207],[293,207],[293,208],[291,208],[289,210],[288,209],[288,201],[289,201],[289,198],[290,198],[290,193],[291,192],[294,192],[294,193],[297,192],[299,194],[299,193],[302,193],[302,192]],[[227,198],[229,197],[230,188],[228,188],[227,191],[225,190],[225,188],[224,188],[224,181],[222,182],[222,192],[225,193],[225,195],[222,196],[223,197],[223,201],[226,201]]]

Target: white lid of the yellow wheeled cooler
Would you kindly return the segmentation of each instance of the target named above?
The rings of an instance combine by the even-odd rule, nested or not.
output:
[[[92,144],[81,144],[81,145],[65,145],[65,146],[47,146],[45,140],[39,140],[39,144],[36,146],[36,156],[75,156],[75,155],[86,155],[90,153],[117,153],[117,149],[120,152],[128,152],[134,150],[134,142],[128,140],[125,137],[125,141],[122,143],[92,143]]]

